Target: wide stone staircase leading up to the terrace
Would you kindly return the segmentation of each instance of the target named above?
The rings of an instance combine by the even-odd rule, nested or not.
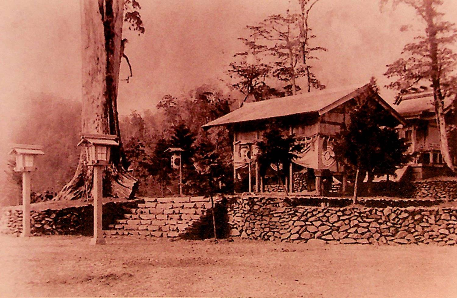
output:
[[[144,203],[125,209],[123,218],[109,225],[105,235],[178,237],[211,209],[210,199],[203,197],[141,199]]]

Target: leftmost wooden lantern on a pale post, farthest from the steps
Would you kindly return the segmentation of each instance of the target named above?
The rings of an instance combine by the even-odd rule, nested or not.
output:
[[[43,155],[43,147],[13,144],[10,154],[16,155],[15,172],[22,172],[22,237],[30,236],[30,172],[36,171],[35,157]]]

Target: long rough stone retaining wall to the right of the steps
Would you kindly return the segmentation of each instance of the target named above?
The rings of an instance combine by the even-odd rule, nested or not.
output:
[[[238,197],[228,210],[231,235],[322,243],[454,245],[457,207],[291,207],[284,199]]]

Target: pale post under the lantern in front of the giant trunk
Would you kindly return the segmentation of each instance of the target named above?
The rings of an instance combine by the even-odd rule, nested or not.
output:
[[[105,244],[102,230],[103,218],[103,166],[94,166],[94,181],[92,186],[94,198],[94,238],[91,245]]]

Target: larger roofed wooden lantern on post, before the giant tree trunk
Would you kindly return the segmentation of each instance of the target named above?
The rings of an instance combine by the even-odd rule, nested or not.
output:
[[[94,167],[92,197],[94,198],[94,238],[90,244],[105,244],[102,230],[103,217],[103,167],[110,161],[112,146],[119,146],[117,136],[81,134],[78,146],[86,147],[87,164]]]

